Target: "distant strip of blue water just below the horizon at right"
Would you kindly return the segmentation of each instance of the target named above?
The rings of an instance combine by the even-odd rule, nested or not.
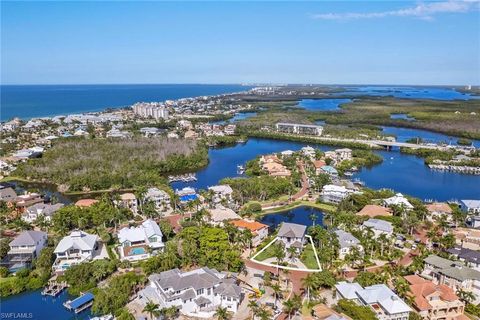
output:
[[[447,87],[415,87],[415,86],[346,86],[343,92],[332,95],[369,95],[377,97],[392,96],[405,99],[433,99],[433,100],[470,100],[479,96],[459,92]]]

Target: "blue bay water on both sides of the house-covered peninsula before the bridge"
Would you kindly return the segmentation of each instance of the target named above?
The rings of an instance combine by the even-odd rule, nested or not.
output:
[[[238,177],[237,165],[244,165],[259,155],[280,152],[283,150],[299,150],[307,143],[249,139],[244,144],[222,149],[210,149],[209,164],[197,171],[197,181],[172,183],[172,187],[192,186],[206,189],[227,177]],[[312,144],[310,144],[312,145]],[[312,145],[313,146],[313,145]],[[319,149],[331,150],[332,147],[316,145]],[[480,198],[480,178],[453,172],[430,170],[422,158],[402,154],[398,151],[376,151],[384,158],[384,162],[370,169],[363,169],[354,177],[366,183],[367,187],[380,189],[390,188],[398,192],[424,199],[439,201],[451,199]]]

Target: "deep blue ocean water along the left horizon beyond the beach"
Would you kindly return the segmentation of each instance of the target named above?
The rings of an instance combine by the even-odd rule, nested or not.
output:
[[[139,101],[217,95],[250,88],[207,84],[2,85],[0,120],[102,111]]]

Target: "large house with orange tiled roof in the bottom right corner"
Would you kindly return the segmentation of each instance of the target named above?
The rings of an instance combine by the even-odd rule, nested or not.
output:
[[[418,275],[405,276],[413,307],[425,320],[462,319],[465,304],[452,288],[435,284]],[[465,318],[467,319],[467,318]]]

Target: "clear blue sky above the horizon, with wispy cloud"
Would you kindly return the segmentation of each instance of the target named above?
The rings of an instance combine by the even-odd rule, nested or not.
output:
[[[5,2],[3,84],[479,84],[477,0]]]

